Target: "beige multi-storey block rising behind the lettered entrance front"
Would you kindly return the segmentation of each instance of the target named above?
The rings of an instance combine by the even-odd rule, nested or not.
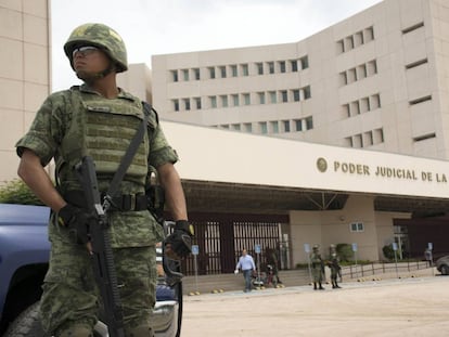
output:
[[[449,3],[385,0],[292,43],[152,59],[164,118],[449,158]]]

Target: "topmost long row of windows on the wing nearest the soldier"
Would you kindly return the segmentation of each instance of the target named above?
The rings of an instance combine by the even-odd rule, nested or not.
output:
[[[296,73],[309,67],[307,55],[297,60],[269,61],[256,63],[230,64],[220,66],[209,66],[204,68],[172,69],[170,70],[174,82],[216,79],[228,77],[245,77],[269,74]]]

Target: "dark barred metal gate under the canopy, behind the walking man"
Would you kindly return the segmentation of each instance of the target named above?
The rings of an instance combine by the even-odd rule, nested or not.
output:
[[[197,256],[183,261],[187,275],[194,274],[195,259],[198,275],[230,273],[243,248],[264,262],[267,250],[280,247],[281,224],[288,223],[288,216],[272,215],[190,213],[189,219],[195,226],[194,244],[200,249]],[[261,247],[257,257],[255,245]]]

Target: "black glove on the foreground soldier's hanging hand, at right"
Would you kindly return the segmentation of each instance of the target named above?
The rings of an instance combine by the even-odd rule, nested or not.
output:
[[[174,260],[182,260],[192,252],[193,225],[187,220],[178,220],[175,231],[165,239],[166,255]]]

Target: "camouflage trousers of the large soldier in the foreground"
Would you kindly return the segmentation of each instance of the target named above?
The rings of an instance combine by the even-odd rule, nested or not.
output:
[[[114,262],[126,336],[136,328],[150,329],[156,294],[155,247],[114,249]],[[92,330],[101,298],[85,246],[53,243],[42,288],[40,319],[47,334],[57,337],[79,326]]]

